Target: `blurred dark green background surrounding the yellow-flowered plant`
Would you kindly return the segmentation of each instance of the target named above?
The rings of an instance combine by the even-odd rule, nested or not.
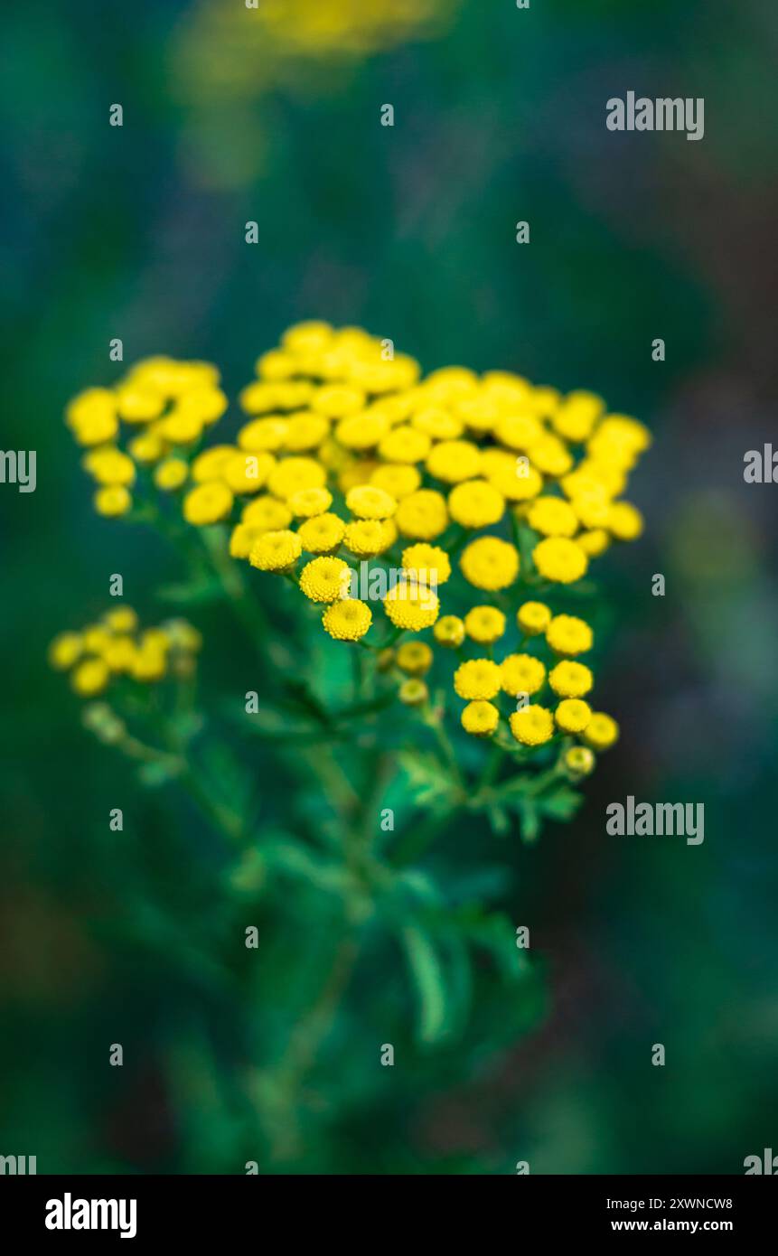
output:
[[[778,10],[268,10],[250,38],[239,0],[79,0],[8,19],[3,446],[38,451],[38,489],[0,486],[0,1154],[36,1154],[39,1172],[227,1167],[240,1010],[161,936],[116,927],[129,879],[180,883],[186,921],[191,870],[201,911],[207,830],[138,793],[45,664],[57,631],[107,607],[113,571],[161,618],[153,590],[176,564],[148,533],[94,516],[62,411],[121,373],[113,337],[126,363],[214,360],[235,396],[288,324],[326,318],[391,337],[425,371],[591,388],[656,443],[630,494],[647,534],[598,564],[600,692],[622,740],[572,825],[498,857],[548,985],[532,1032],[486,1058],[463,1044],[407,1079],[386,1070],[378,1094],[352,1084],[292,1168],[743,1172],[778,1138],[778,490],[743,482],[774,414]],[[705,138],[608,132],[605,102],[630,89],[704,97]],[[227,629],[192,618],[219,676]],[[271,794],[261,756],[255,774]],[[606,835],[605,806],[627,794],[704,803],[705,843]],[[109,834],[117,805],[126,831]],[[451,834],[470,857],[480,840]],[[386,980],[391,1002],[383,962],[362,980]],[[341,1026],[331,1089],[359,1074],[362,1032],[371,1053],[386,1041],[380,1024]],[[122,1069],[104,1066],[113,1041]]]

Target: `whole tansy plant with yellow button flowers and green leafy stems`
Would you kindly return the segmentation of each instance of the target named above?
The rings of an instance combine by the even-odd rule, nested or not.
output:
[[[483,818],[524,842],[569,820],[616,741],[581,661],[598,613],[589,566],[642,530],[622,494],[650,436],[592,393],[464,367],[422,377],[391,342],[319,322],[259,358],[239,403],[248,418],[215,443],[229,423],[216,368],[152,358],[80,393],[67,422],[98,514],[163,533],[186,578],[162,594],[235,615],[261,692],[201,710],[200,633],[181,618],[138,633],[124,607],[63,633],[50,661],[146,785],[189,790],[224,838],[230,901],[293,883],[333,906],[312,1004],[251,1085],[290,1154],[303,1078],[371,946],[398,939],[424,1042],[473,1024],[474,952],[530,982],[490,907],[504,879],[496,896],[489,878],[456,880],[441,849],[463,818],[471,840]],[[266,819],[258,740],[279,779],[318,785]]]

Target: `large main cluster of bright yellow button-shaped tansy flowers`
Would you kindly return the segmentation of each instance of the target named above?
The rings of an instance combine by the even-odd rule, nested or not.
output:
[[[434,643],[460,652],[454,687],[468,732],[499,732],[499,693],[548,687],[549,706],[510,713],[518,742],[564,734],[602,750],[616,740],[615,722],[588,706],[592,676],[576,661],[591,628],[525,599],[574,584],[612,541],[640,536],[642,517],[622,495],[651,441],[642,423],[607,413],[593,393],[505,371],[422,376],[391,340],[324,322],[289,328],[258,359],[234,441],[204,448],[227,407],[219,383],[207,363],[153,358],[70,403],[98,510],[128,509],[145,476],[181,495],[191,525],[226,524],[234,559],[293,580],[333,639],[358,642],[382,619],[377,647],[431,629]],[[119,425],[132,428],[123,448]],[[519,646],[504,644],[498,663],[495,644],[514,623]],[[553,667],[528,653],[528,638],[543,639]],[[470,643],[488,657],[465,658]],[[402,701],[416,705],[432,652],[407,647],[380,668],[396,664]],[[584,771],[586,756],[572,762]]]

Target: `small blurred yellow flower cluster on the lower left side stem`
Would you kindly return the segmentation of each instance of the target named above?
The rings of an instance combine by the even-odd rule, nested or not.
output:
[[[168,672],[187,676],[201,644],[200,633],[186,619],[170,619],[141,632],[134,610],[116,607],[99,623],[55,637],[49,663],[58,672],[69,672],[75,693],[90,698],[119,677],[153,683]]]

